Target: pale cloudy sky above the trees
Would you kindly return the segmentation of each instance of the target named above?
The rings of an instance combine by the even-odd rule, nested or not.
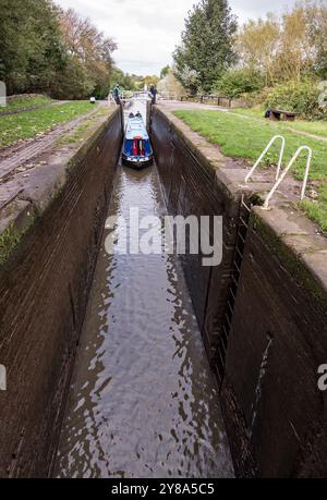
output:
[[[243,22],[268,11],[280,12],[295,0],[230,0]],[[129,73],[157,74],[171,62],[184,19],[196,0],[56,0],[89,17],[118,44],[117,65]]]

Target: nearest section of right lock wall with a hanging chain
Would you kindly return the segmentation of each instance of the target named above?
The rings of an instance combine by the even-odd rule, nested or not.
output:
[[[307,244],[286,214],[254,209],[221,394],[243,477],[326,476],[326,248],[314,236]]]

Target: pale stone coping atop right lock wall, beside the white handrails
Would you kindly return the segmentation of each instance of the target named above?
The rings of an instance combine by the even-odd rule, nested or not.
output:
[[[177,118],[172,113],[173,106],[157,106],[156,112],[162,113],[189,149],[215,170],[216,182],[220,188],[227,190],[234,199],[241,200],[244,197],[245,202],[250,200],[255,205],[251,223],[265,233],[274,255],[289,264],[294,278],[326,314],[327,239],[320,234],[317,224],[295,206],[302,184],[290,174],[272,198],[270,208],[265,210],[262,205],[274,185],[275,169],[258,169],[253,181],[245,184],[244,180],[252,164],[246,160],[223,156],[219,146],[210,144]]]

